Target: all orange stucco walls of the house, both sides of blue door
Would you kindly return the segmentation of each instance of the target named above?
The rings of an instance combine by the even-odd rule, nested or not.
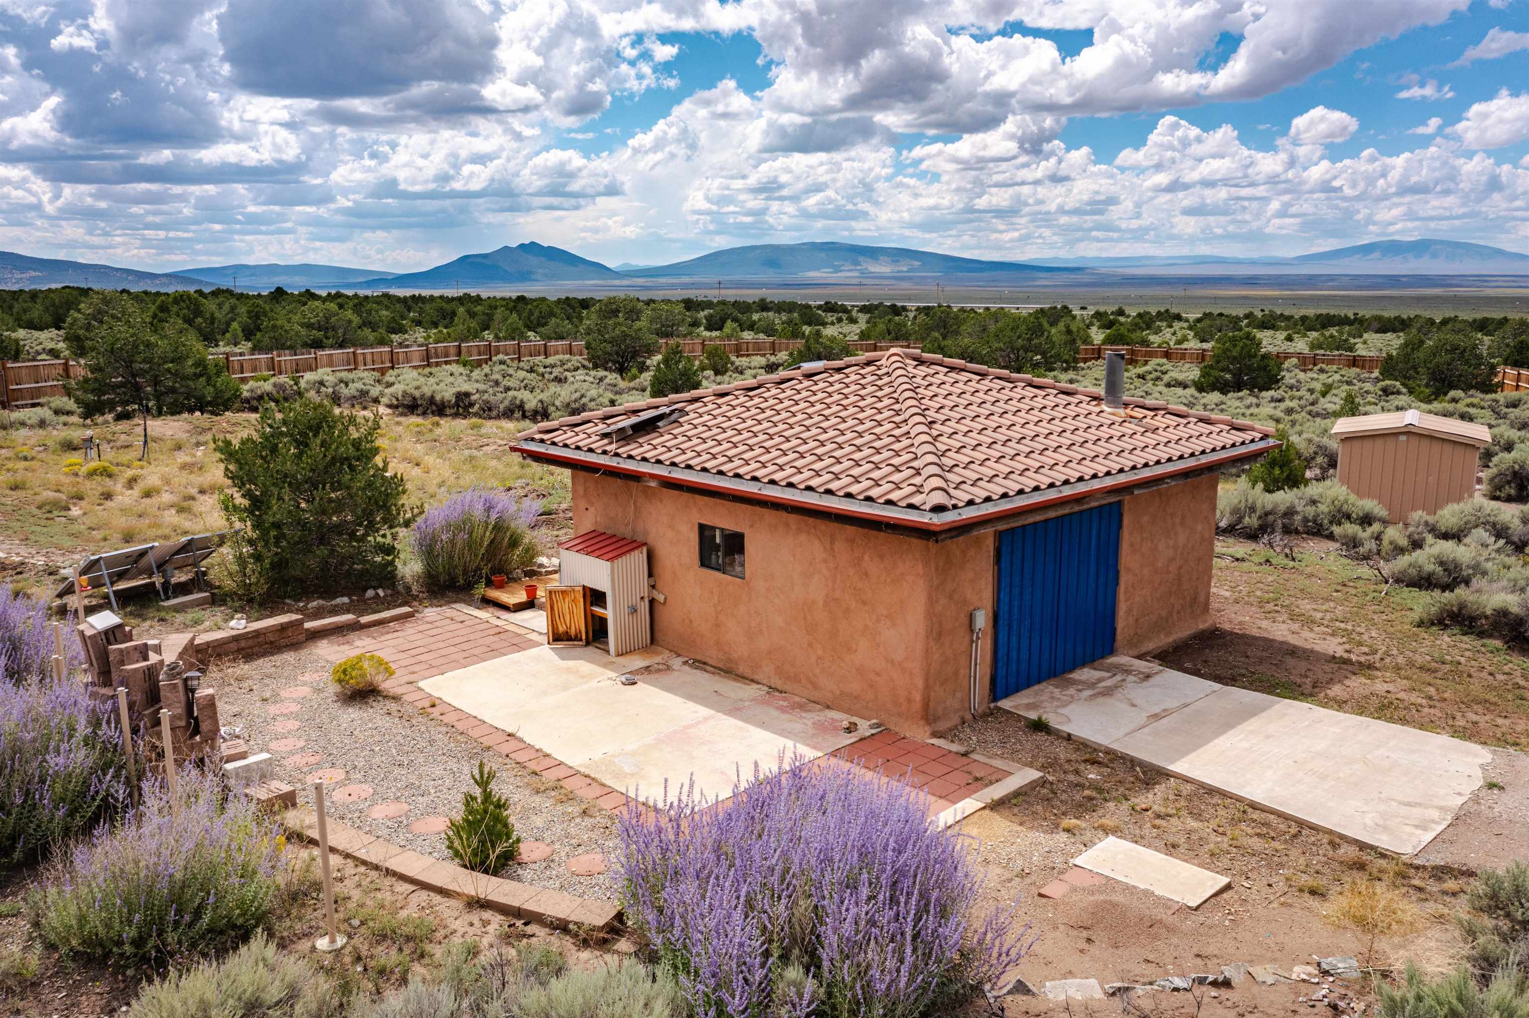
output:
[[[700,569],[699,523],[742,530],[746,576]],[[997,532],[881,533],[573,472],[573,530],[648,543],[653,642],[910,735],[968,714],[971,610],[985,608],[977,695],[992,676]],[[1216,477],[1125,498],[1116,651],[1144,654],[1211,624]]]

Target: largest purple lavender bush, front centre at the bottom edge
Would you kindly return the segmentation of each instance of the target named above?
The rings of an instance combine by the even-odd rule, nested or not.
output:
[[[920,792],[861,767],[781,761],[706,809],[694,787],[619,822],[627,920],[699,1018],[917,1018],[1029,951]]]

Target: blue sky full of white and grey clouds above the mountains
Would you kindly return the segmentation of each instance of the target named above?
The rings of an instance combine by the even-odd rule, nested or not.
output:
[[[1529,0],[0,0],[44,257],[1417,235],[1529,251]]]

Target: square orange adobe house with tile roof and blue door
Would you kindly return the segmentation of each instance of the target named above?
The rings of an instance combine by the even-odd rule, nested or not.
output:
[[[891,350],[553,420],[517,451],[572,471],[575,535],[647,543],[654,644],[927,735],[1208,627],[1216,469],[1271,434]]]

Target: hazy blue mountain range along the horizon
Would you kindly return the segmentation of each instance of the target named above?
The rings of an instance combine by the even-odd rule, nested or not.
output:
[[[324,290],[505,290],[596,284],[616,289],[657,286],[665,280],[795,281],[833,284],[853,281],[948,280],[983,284],[1005,280],[1050,278],[1079,284],[1107,284],[1113,277],[1170,275],[1529,275],[1529,254],[1459,240],[1378,240],[1352,248],[1318,251],[1294,258],[1235,258],[1223,255],[1130,255],[1027,258],[989,261],[913,248],[882,248],[836,242],[749,245],[723,248],[696,258],[657,266],[622,264],[621,271],[581,258],[563,248],[534,242],[483,254],[462,255],[424,272],[384,272],[330,264],[223,264],[174,274],[141,272],[107,264],[32,258],[0,252],[0,287],[96,286],[110,289],[183,290],[232,286],[239,289]]]

